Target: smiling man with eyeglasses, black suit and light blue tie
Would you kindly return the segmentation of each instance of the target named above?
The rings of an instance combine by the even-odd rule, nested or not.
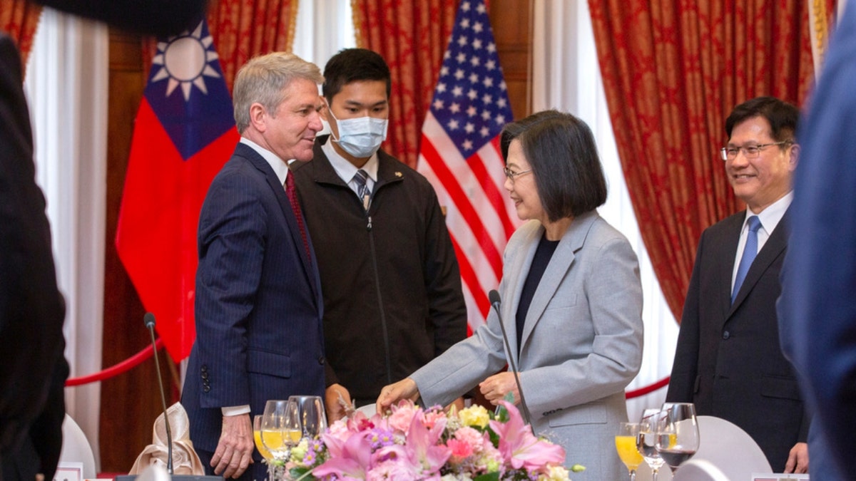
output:
[[[802,473],[811,419],[776,322],[799,116],[792,104],[759,97],[725,121],[722,160],[746,211],[698,241],[666,401],[731,421],[758,442],[774,472]]]

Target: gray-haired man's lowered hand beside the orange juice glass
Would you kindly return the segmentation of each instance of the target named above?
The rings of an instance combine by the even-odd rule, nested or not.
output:
[[[237,478],[247,471],[253,462],[253,423],[250,415],[223,416],[223,431],[217,450],[211,457],[214,473],[223,478]]]

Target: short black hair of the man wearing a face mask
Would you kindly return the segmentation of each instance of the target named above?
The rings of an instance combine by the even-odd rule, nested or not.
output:
[[[386,81],[386,97],[392,91],[392,76],[389,65],[375,51],[368,49],[342,49],[331,56],[324,66],[324,86],[321,92],[328,102],[333,100],[343,86],[360,80]]]

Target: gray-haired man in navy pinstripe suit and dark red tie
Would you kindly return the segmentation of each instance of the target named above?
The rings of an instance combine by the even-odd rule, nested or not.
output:
[[[196,341],[181,395],[209,474],[267,478],[253,415],[271,399],[324,395],[318,264],[287,163],[312,159],[322,81],[318,67],[282,52],[235,78],[241,141],[199,215]]]

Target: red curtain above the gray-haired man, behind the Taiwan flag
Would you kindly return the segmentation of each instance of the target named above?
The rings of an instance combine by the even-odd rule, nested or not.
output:
[[[250,58],[291,51],[299,0],[211,0],[208,30],[220,57],[229,92],[238,69]],[[155,39],[143,41],[146,75],[157,51]]]

